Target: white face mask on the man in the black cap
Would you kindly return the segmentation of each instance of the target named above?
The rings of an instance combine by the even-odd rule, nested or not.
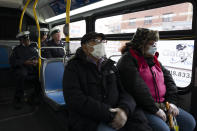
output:
[[[100,44],[97,44],[97,45],[94,45],[94,46],[91,46],[94,48],[94,51],[91,52],[91,54],[96,57],[96,58],[101,58],[101,57],[104,57],[105,56],[105,46],[103,43],[100,43]]]

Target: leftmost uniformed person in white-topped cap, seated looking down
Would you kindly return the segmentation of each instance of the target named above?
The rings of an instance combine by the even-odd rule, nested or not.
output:
[[[17,79],[17,87],[14,98],[14,106],[19,109],[24,102],[25,82],[30,81],[39,91],[38,81],[38,52],[30,45],[29,31],[20,32],[16,38],[20,40],[20,45],[16,46],[10,56],[10,64]]]

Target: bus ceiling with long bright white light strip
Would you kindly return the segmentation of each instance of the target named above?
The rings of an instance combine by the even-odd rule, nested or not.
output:
[[[71,3],[71,16],[78,15],[81,13],[85,13],[88,11],[101,9],[102,7],[110,7],[110,5],[114,4],[113,7],[117,8],[117,5],[120,6],[122,4],[128,3],[136,3],[147,0],[91,0],[91,1],[75,1],[72,0]],[[24,8],[27,0],[0,0],[0,7],[6,8],[16,8],[21,11]],[[27,7],[26,13],[34,18],[33,16],[33,3],[34,0],[31,0],[29,6]],[[84,7],[85,6],[85,7]],[[84,7],[84,8],[83,8]],[[41,23],[50,23],[55,20],[64,19],[65,18],[65,3],[64,0],[39,0],[37,7],[38,20]],[[90,15],[90,13],[86,14]]]

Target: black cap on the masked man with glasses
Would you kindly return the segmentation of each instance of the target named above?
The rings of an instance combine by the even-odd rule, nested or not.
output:
[[[101,37],[102,40],[105,39],[105,35],[103,33],[97,33],[97,32],[90,32],[85,34],[82,38],[81,38],[81,45],[86,44],[89,40],[91,39],[95,39],[97,37]]]

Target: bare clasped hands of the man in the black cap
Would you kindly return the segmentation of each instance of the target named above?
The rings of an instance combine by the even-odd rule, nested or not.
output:
[[[120,108],[111,108],[111,112],[116,112],[116,116],[113,119],[112,123],[110,123],[111,127],[119,130],[122,128],[127,122],[127,115],[124,110]]]

